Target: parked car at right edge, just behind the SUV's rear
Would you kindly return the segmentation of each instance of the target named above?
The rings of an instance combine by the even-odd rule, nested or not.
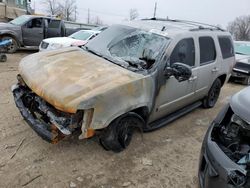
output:
[[[236,64],[232,80],[250,85],[250,42],[235,41]]]

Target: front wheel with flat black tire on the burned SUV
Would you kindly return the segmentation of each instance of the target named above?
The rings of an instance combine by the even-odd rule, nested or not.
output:
[[[136,113],[129,112],[115,119],[102,131],[99,141],[105,150],[121,152],[128,147],[131,142],[134,130],[142,129],[144,120]]]

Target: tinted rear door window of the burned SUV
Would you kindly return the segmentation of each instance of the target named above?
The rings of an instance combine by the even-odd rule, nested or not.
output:
[[[200,64],[212,63],[216,59],[216,49],[212,37],[200,37]]]

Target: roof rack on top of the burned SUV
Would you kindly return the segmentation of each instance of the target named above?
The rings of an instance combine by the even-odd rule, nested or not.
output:
[[[190,31],[197,31],[197,30],[219,30],[219,31],[225,31],[224,29],[210,25],[210,24],[205,24],[205,23],[200,23],[200,22],[194,22],[194,21],[188,21],[188,20],[178,20],[178,19],[164,19],[164,18],[149,18],[149,19],[142,19],[142,20],[156,20],[156,21],[166,21],[166,22],[175,22],[175,23],[185,23],[190,26],[195,26],[197,28],[192,28]],[[164,26],[164,30],[165,30]]]

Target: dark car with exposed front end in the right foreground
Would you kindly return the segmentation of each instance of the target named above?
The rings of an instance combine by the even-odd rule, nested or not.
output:
[[[201,188],[250,187],[250,87],[234,95],[203,141]]]

